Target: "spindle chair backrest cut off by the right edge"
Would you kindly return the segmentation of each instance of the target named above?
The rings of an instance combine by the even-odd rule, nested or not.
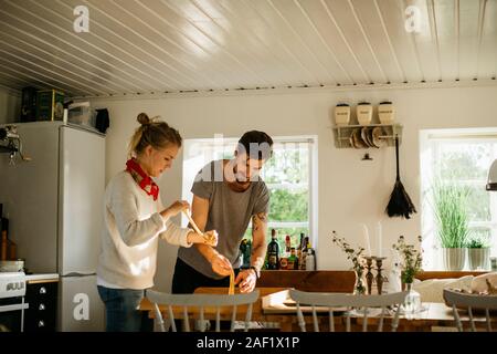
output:
[[[459,316],[459,309],[467,309],[470,329],[476,332],[474,310],[485,310],[485,322],[488,332],[491,332],[490,310],[497,310],[497,295],[479,295],[463,293],[451,289],[444,289],[445,303],[452,308],[457,330],[463,332],[463,322]]]

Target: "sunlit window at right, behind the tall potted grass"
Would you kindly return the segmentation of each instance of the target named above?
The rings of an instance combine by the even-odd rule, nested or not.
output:
[[[468,218],[472,237],[486,238],[497,254],[497,192],[485,190],[488,170],[497,157],[497,129],[425,131],[421,134],[422,235],[424,267],[442,269],[437,257],[435,217],[430,188],[434,178],[469,188]]]

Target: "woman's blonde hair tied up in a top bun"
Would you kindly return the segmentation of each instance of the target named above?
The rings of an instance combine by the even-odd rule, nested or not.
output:
[[[170,145],[181,147],[181,135],[166,122],[158,121],[157,117],[150,119],[146,113],[138,114],[136,119],[141,125],[135,131],[129,142],[129,158],[140,155],[148,145],[155,149],[162,149]]]

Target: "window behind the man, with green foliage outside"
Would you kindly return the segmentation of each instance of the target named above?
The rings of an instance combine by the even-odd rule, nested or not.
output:
[[[214,159],[233,158],[237,138],[187,139],[183,157],[183,199],[190,200],[191,186],[197,173]],[[264,165],[261,177],[271,192],[267,241],[271,229],[278,231],[281,247],[285,236],[298,244],[300,232],[309,236],[313,247],[317,241],[317,137],[273,137],[273,157]],[[184,220],[187,223],[187,220]],[[245,233],[252,238],[252,225]]]

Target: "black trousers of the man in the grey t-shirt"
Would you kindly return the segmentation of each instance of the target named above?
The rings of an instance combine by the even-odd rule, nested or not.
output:
[[[240,269],[235,269],[235,278],[239,274]],[[176,259],[175,275],[172,277],[172,293],[173,294],[191,294],[197,288],[209,287],[209,288],[228,288],[230,287],[230,277],[222,279],[209,278],[187,263],[184,263],[179,258]]]

